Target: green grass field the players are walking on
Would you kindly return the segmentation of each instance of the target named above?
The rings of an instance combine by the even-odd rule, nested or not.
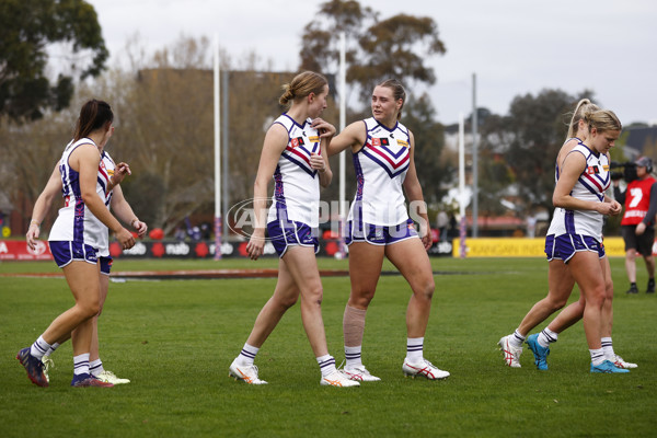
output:
[[[0,436],[43,437],[647,437],[657,436],[657,297],[627,297],[623,260],[612,258],[614,347],[638,362],[629,374],[590,374],[581,324],[560,336],[550,370],[503,365],[497,341],[546,291],[540,258],[434,258],[436,295],[425,357],[446,381],[405,379],[410,289],[383,276],[367,315],[364,361],[382,378],[360,388],[320,387],[298,306],[256,358],[269,382],[228,378],[275,279],[128,280],[110,285],[100,323],[107,369],[131,379],[113,389],[72,389],[70,343],[53,356],[50,388],[32,384],[15,359],[72,303],[64,279],[0,277]],[[114,270],[274,267],[258,262],[117,261]],[[321,268],[346,268],[320,260]],[[385,270],[392,270],[385,265]],[[0,273],[56,272],[54,263],[0,263]],[[637,265],[645,287],[643,265]],[[344,358],[346,277],[323,279],[330,353]],[[576,299],[578,292],[574,292]],[[544,326],[541,325],[540,328]]]

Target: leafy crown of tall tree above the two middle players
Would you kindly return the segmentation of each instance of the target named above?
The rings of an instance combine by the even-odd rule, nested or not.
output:
[[[431,18],[397,14],[379,21],[379,13],[355,0],[331,0],[320,5],[302,35],[301,69],[336,72],[339,33],[347,38],[347,82],[365,101],[373,85],[388,78],[433,84],[436,77],[426,59],[446,51]]]

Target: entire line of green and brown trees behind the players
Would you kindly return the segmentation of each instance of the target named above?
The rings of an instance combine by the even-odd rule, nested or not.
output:
[[[24,14],[27,9],[31,14]],[[66,18],[71,11],[84,14],[89,22],[84,28],[65,33],[66,22],[53,20],[49,31],[34,30],[33,24],[44,14]],[[22,15],[21,20],[12,21],[14,15]],[[0,184],[25,220],[71,138],[79,107],[90,97],[106,100],[115,111],[116,131],[107,151],[115,161],[130,163],[132,176],[122,186],[142,220],[169,233],[192,214],[211,218],[214,95],[207,38],[182,36],[152,55],[140,51],[135,39],[128,42],[125,54],[130,67],[104,70],[106,49],[95,12],[84,1],[7,1],[0,4],[0,21],[4,24],[0,26]],[[348,107],[347,122],[370,116],[369,96],[377,83],[400,79],[408,92],[402,123],[415,135],[415,160],[425,198],[433,208],[445,208],[441,199],[458,184],[457,155],[445,149],[445,127],[437,120],[428,94],[413,93],[418,84],[436,80],[426,60],[446,51],[437,24],[430,18],[406,14],[379,20],[379,13],[357,1],[331,0],[319,7],[315,20],[304,27],[299,70],[312,69],[334,79],[341,31],[347,37],[348,90],[359,100]],[[11,32],[23,37],[12,39]],[[47,80],[47,87],[43,85],[45,48],[59,41],[67,42],[73,54],[81,49],[91,54],[79,79],[91,76],[93,80],[60,76],[54,87]],[[13,54],[24,50],[37,50],[35,65],[25,67],[14,60]],[[265,131],[283,111],[278,105],[280,85],[296,72],[272,73],[267,61],[255,53],[235,60],[221,50],[220,58],[222,74],[228,74],[222,80],[229,84],[221,92],[229,107],[223,138],[228,138],[228,193],[229,205],[233,205],[252,196]],[[31,88],[36,82],[42,85]],[[348,96],[336,96],[334,85],[332,80],[323,117],[337,126],[336,97]],[[33,99],[25,97],[27,92]],[[483,215],[500,214],[499,199],[508,196],[528,210],[532,206],[552,210],[554,158],[567,130],[564,114],[585,95],[593,97],[589,91],[569,95],[544,90],[517,96],[505,116],[484,111],[485,117],[480,116]],[[337,158],[331,163],[337,174]],[[353,166],[347,165],[348,198],[354,187]],[[337,199],[337,177],[322,197]]]

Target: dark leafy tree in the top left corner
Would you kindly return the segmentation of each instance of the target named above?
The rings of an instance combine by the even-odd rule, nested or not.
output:
[[[48,49],[67,61],[51,83]],[[68,106],[78,79],[97,76],[108,57],[96,13],[83,0],[0,1],[0,115],[36,119]]]

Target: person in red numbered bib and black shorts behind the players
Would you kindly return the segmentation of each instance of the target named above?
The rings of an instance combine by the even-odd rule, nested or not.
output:
[[[620,180],[613,182],[615,199],[625,205],[625,214],[621,220],[621,233],[625,241],[625,270],[630,279],[627,293],[638,293],[636,287],[636,253],[639,253],[648,270],[646,293],[655,292],[655,214],[657,212],[657,181],[650,175],[653,160],[641,157],[635,162],[636,180],[627,183],[625,192],[621,192]]]

